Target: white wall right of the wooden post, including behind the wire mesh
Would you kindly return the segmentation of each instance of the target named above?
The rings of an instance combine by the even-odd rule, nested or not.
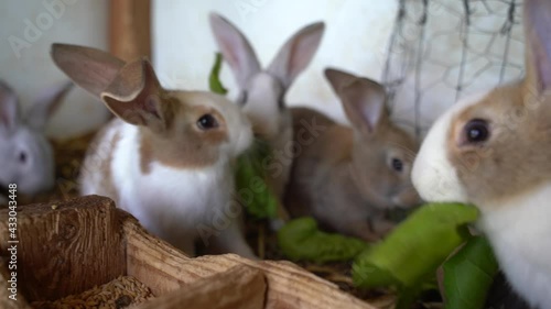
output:
[[[292,87],[288,102],[313,106],[344,121],[341,106],[323,78],[323,69],[335,66],[381,80],[397,3],[398,0],[155,1],[154,63],[164,85],[206,89],[216,51],[207,23],[208,12],[223,14],[241,29],[264,65],[292,33],[307,23],[323,20],[327,27],[321,48]],[[429,3],[428,22],[422,32],[419,26],[422,1],[406,1],[407,20],[400,35],[401,45],[391,54],[392,65],[403,78],[392,115],[402,124],[413,124],[419,99],[418,125],[423,129],[457,97],[519,78],[523,68],[521,7],[517,7],[512,37],[508,41],[507,36],[499,34],[507,21],[508,3],[472,1],[468,48],[464,49],[465,33],[461,33],[465,25],[463,1],[430,0]],[[425,38],[421,40],[423,35]],[[501,80],[506,48],[510,65]],[[414,70],[418,57],[422,64],[419,74]],[[460,82],[462,57],[467,65],[463,67],[464,78]],[[223,81],[235,90],[227,66]],[[461,96],[455,89],[458,84],[463,85]],[[235,91],[230,93],[234,95]]]

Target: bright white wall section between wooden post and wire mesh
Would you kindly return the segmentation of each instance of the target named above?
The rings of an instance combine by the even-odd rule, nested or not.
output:
[[[325,21],[320,51],[291,88],[288,102],[314,106],[342,120],[341,106],[323,78],[323,69],[335,66],[379,79],[396,9],[396,1],[389,0],[154,1],[154,64],[166,87],[207,89],[217,49],[208,25],[210,11],[223,14],[245,33],[264,66],[299,29]],[[229,96],[235,96],[227,66],[222,78],[234,90]]]

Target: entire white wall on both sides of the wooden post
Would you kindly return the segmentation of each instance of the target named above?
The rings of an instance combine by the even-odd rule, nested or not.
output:
[[[342,108],[322,71],[326,66],[335,66],[381,80],[397,2],[398,0],[155,0],[152,1],[155,69],[166,87],[207,89],[207,76],[216,51],[208,26],[207,16],[210,11],[225,15],[240,27],[264,65],[294,32],[309,23],[323,20],[326,22],[326,33],[321,48],[309,69],[291,88],[288,101],[290,104],[313,106],[344,121]],[[408,48],[417,46],[420,35],[415,23],[421,2],[407,1],[411,26],[402,33],[402,41]],[[393,63],[400,64],[411,62],[406,58],[420,53],[426,64],[420,75],[420,85],[425,90],[421,96],[421,120],[425,126],[455,101],[453,87],[463,46],[463,36],[458,33],[463,23],[461,2],[431,0],[426,40],[421,49],[395,51],[392,55]],[[507,4],[497,0],[473,3],[474,34],[469,36],[469,65],[464,71],[471,79],[465,84],[465,93],[497,85],[500,55],[508,43],[505,36],[495,35],[504,26],[508,15]],[[53,11],[50,8],[52,4],[57,4]],[[24,109],[41,89],[66,80],[50,59],[51,43],[65,42],[106,49],[107,7],[108,0],[28,0],[2,3],[0,78],[19,92]],[[520,8],[517,9],[518,15]],[[516,22],[512,41],[509,43],[511,66],[507,68],[505,81],[522,74],[523,45],[519,16]],[[29,23],[40,27],[40,35],[26,37],[33,34],[25,34],[31,27]],[[26,42],[28,47],[13,48],[13,43],[10,42],[17,38]],[[488,44],[489,42],[494,44]],[[446,65],[434,65],[439,60]],[[397,93],[398,106],[395,113],[396,118],[409,122],[412,121],[417,95],[415,75],[411,68],[408,67],[404,86]],[[445,82],[431,86],[434,80]],[[223,81],[234,90],[230,92],[230,97],[234,97],[234,77],[227,66],[223,70]],[[97,128],[106,115],[106,109],[99,101],[76,88],[56,113],[47,131],[57,137],[76,135]]]

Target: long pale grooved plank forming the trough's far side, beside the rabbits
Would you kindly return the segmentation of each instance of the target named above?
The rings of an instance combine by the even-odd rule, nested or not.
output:
[[[266,275],[266,308],[374,309],[291,262],[251,261],[235,254],[190,258],[148,234],[136,219],[127,217],[123,221],[127,272],[148,285],[155,295],[186,287],[236,265],[247,265]]]

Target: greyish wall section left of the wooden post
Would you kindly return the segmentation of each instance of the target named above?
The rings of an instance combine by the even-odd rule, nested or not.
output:
[[[0,79],[19,93],[23,110],[42,89],[67,80],[50,58],[53,42],[107,47],[107,0],[2,1]],[[57,137],[76,135],[96,128],[106,114],[99,101],[75,87],[47,132]]]

